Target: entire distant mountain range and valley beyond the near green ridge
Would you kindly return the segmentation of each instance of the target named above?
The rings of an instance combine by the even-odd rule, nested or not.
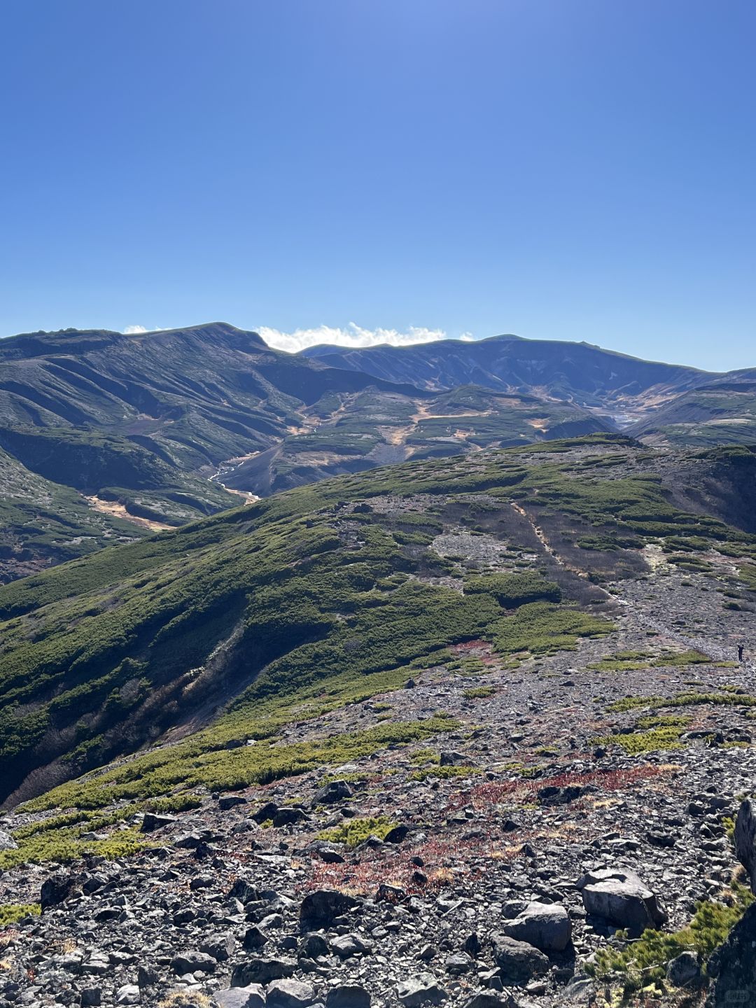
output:
[[[660,445],[756,443],[756,371],[515,336],[300,354],[227,323],[9,337],[0,579],[239,494],[618,428]]]

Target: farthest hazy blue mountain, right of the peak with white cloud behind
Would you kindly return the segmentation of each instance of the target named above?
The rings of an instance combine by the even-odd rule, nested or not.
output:
[[[302,356],[427,389],[474,384],[576,402],[626,422],[713,377],[696,368],[642,361],[588,343],[517,336],[364,350],[321,346],[302,351]]]

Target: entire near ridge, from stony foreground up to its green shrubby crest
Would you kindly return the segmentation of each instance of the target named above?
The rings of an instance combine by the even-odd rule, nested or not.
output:
[[[743,448],[594,435],[0,590],[0,994],[682,1004],[750,898],[755,489]]]

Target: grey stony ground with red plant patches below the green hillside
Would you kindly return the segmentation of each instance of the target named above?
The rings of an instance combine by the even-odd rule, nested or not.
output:
[[[0,903],[41,893],[44,909],[0,931],[0,999],[601,1004],[585,966],[618,926],[676,929],[697,900],[728,898],[739,866],[726,817],[756,774],[756,665],[732,663],[752,612],[723,608],[711,576],[648,559],[646,580],[607,586],[614,634],[516,667],[485,642],[460,645],[461,668],[282,739],[454,716],[429,744],[137,818],[145,847],[128,859],[6,872]],[[699,660],[674,663],[691,648]],[[617,659],[627,651],[645,657]],[[681,695],[698,699],[664,703]],[[656,700],[612,709],[628,697]],[[688,719],[676,742],[615,741],[670,716]],[[356,846],[321,836],[340,827]]]

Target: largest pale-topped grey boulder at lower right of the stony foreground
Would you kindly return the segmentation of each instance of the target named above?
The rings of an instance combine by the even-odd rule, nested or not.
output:
[[[660,927],[667,920],[657,897],[637,875],[624,868],[587,873],[577,885],[588,913],[626,927],[633,936],[646,927]]]

